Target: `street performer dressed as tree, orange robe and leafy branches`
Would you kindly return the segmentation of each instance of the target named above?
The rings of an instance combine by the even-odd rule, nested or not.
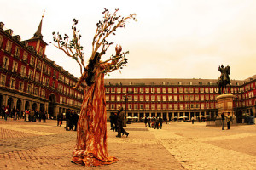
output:
[[[115,35],[117,28],[125,27],[126,20],[136,20],[135,14],[130,14],[126,18],[117,16],[118,11],[119,9],[116,9],[113,14],[109,14],[108,9],[105,9],[102,12],[104,20],[100,20],[96,24],[97,29],[92,42],[92,54],[86,66],[84,65],[83,47],[79,43],[81,35],[79,35],[76,28],[78,20],[73,19],[73,39],[71,41],[69,41],[67,34],[62,37],[61,34],[53,32],[54,46],[61,49],[67,56],[75,59],[80,65],[82,76],[74,88],[79,88],[83,82],[86,83],[78,122],[77,143],[72,158],[73,163],[82,164],[86,167],[111,164],[118,161],[117,158],[108,156],[104,75],[122,69],[127,63],[125,54],[128,52],[121,53],[121,46],[116,46],[115,56],[112,55],[110,59],[105,61],[100,60],[113,44],[113,42],[108,42],[106,38],[111,34]],[[100,48],[101,52],[98,52]]]

